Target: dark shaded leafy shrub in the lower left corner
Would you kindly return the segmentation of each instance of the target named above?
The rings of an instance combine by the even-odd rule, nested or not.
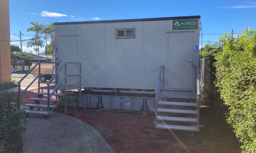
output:
[[[20,140],[21,132],[25,131],[27,120],[24,110],[18,110],[20,104],[14,92],[8,89],[15,82],[0,85],[0,152],[14,152],[17,140]]]

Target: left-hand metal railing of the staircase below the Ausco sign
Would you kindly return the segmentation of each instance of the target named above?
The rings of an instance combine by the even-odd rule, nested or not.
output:
[[[158,101],[161,100],[161,83],[164,80],[164,65],[159,66],[158,70],[158,76],[156,81],[156,87],[155,87],[155,126],[157,126],[157,109],[158,109]],[[163,90],[164,90],[164,82],[163,82]]]

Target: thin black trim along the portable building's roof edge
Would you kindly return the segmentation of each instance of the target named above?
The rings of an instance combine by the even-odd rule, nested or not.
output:
[[[139,22],[139,21],[160,21],[160,20],[182,20],[182,19],[201,19],[201,16],[200,15],[195,15],[195,16],[177,16],[177,17],[144,18],[144,19],[124,19],[124,20],[102,20],[102,21],[81,21],[81,22],[54,22],[54,25],[116,23],[116,22]]]

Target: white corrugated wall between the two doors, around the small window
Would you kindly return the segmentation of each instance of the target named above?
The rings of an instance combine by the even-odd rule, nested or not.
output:
[[[155,89],[158,68],[167,65],[172,20],[55,26],[55,37],[78,35],[83,87]],[[116,29],[130,28],[135,38],[116,39]]]

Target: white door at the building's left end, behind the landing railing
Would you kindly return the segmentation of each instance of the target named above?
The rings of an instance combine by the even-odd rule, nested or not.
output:
[[[78,49],[77,49],[77,36],[58,36],[58,49],[59,49],[59,67],[63,65],[64,62],[77,62],[78,61]],[[77,64],[67,64],[67,75],[75,75],[78,73]],[[59,73],[59,81],[65,76],[65,69],[62,68]],[[64,84],[65,80],[61,84]],[[67,84],[77,85],[78,76],[67,77]]]

